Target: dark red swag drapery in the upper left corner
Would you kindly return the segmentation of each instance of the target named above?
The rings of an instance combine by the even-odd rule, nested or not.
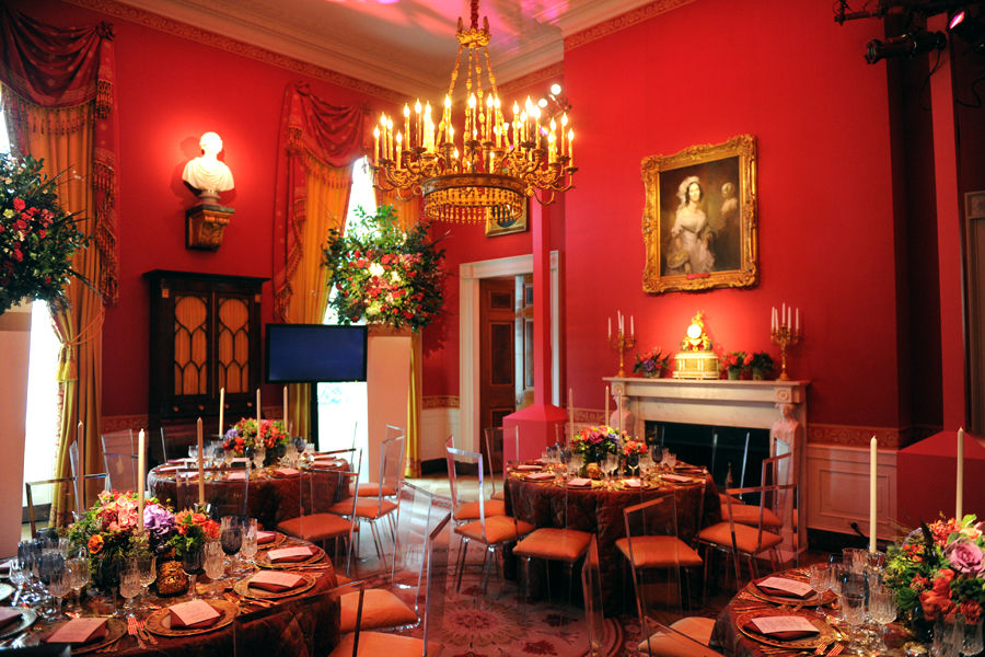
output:
[[[104,303],[115,303],[118,281],[117,122],[113,112],[115,57],[112,26],[100,23],[61,30],[3,7],[0,8],[0,79],[10,91],[5,103],[13,125],[24,125],[26,104],[72,107],[95,102],[91,182],[96,215],[93,234],[102,265],[100,292]],[[58,134],[72,131],[74,127],[28,125],[26,129]]]

